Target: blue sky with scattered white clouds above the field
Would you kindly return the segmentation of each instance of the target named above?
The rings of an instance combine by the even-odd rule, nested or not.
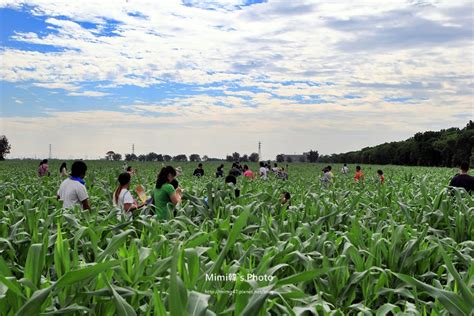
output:
[[[274,159],[463,127],[472,1],[0,0],[13,157]]]

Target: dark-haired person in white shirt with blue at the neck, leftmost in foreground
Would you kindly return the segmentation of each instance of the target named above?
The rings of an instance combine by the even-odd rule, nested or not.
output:
[[[63,202],[63,208],[72,208],[82,205],[83,210],[90,210],[89,196],[87,195],[86,176],[87,165],[83,161],[74,161],[71,166],[71,176],[59,186],[58,200]]]

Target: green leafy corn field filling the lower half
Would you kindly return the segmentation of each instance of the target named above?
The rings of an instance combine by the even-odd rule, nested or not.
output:
[[[117,218],[122,163],[87,162],[92,210],[62,209],[59,164],[0,163],[0,315],[473,314],[474,199],[447,189],[454,169],[383,166],[380,185],[377,166],[354,183],[333,165],[325,186],[322,165],[290,164],[288,181],[239,177],[235,198],[217,163],[183,163],[158,221]],[[132,165],[150,195],[161,163]]]

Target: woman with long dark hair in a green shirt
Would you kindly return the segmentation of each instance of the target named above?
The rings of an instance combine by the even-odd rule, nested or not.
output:
[[[176,170],[172,166],[161,168],[153,190],[153,204],[158,219],[169,219],[168,207],[174,207],[181,202],[181,188],[174,188],[171,182],[176,177]]]

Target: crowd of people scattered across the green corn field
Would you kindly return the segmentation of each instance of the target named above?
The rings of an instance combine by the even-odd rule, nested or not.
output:
[[[452,178],[449,186],[463,188],[471,194],[471,192],[474,191],[474,177],[470,176],[468,171],[469,164],[462,163],[460,173]],[[86,172],[87,165],[82,160],[75,161],[72,164],[69,175],[67,173],[66,163],[61,164],[59,174],[63,177],[66,176],[67,178],[62,181],[57,192],[57,198],[63,203],[64,208],[81,205],[84,210],[90,209],[89,196],[84,180]],[[330,185],[334,181],[332,167],[326,166],[322,169],[322,172],[323,176],[320,178],[321,182],[326,186]],[[249,180],[260,178],[263,181],[267,181],[271,173],[273,173],[277,179],[288,179],[287,171],[284,168],[278,167],[276,163],[273,167],[270,167],[269,163],[260,162],[258,175],[256,175],[248,165],[242,166],[239,162],[235,162],[232,164],[232,167],[229,169],[229,172],[225,177],[225,184],[233,187],[234,195],[238,198],[240,196],[240,190],[237,188],[237,178],[239,176],[245,177]],[[177,176],[182,174],[181,168],[174,168],[172,166],[162,167],[157,175],[155,188],[152,191],[151,197],[147,200],[142,200],[141,203],[138,203],[134,199],[130,191],[130,183],[134,174],[136,174],[135,169],[131,166],[124,165],[124,172],[118,176],[118,186],[112,197],[113,205],[117,209],[120,209],[121,213],[125,214],[126,217],[130,217],[133,211],[140,210],[143,207],[149,207],[158,219],[169,219],[170,209],[174,209],[174,206],[181,202],[184,192],[176,179]],[[193,172],[193,176],[203,177],[204,174],[203,165],[202,163],[199,163]],[[341,174],[343,176],[349,175],[349,167],[346,164],[341,168]],[[38,168],[38,175],[40,177],[50,175],[47,159],[41,161]],[[223,164],[217,167],[215,176],[216,178],[224,177]],[[382,170],[377,170],[377,178],[381,185],[385,183],[385,176]],[[365,181],[365,175],[360,166],[356,166],[355,168],[354,181],[356,183]],[[140,189],[143,190],[143,188]],[[138,190],[136,190],[136,192],[140,195]],[[207,203],[207,200],[204,202]],[[291,205],[291,194],[286,191],[282,192],[280,203],[286,206]]]

